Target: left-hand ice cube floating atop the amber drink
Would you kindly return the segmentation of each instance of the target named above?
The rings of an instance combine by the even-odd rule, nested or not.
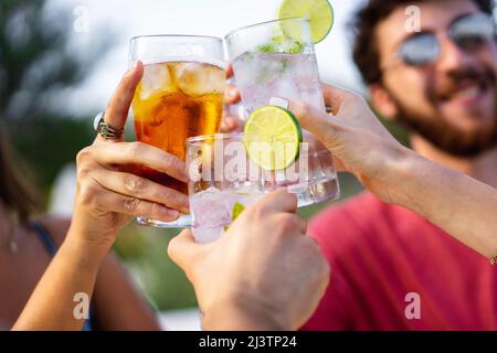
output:
[[[144,67],[139,94],[141,99],[165,96],[176,90],[175,82],[167,63],[150,64]]]

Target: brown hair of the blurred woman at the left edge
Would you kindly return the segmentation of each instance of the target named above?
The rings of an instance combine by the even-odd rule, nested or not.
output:
[[[19,221],[25,222],[38,211],[40,199],[34,188],[21,176],[13,160],[12,148],[0,121],[0,203]]]

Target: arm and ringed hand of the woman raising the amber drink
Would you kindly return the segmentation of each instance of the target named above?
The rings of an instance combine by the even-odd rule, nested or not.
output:
[[[137,63],[124,76],[109,101],[105,120],[116,129],[125,126],[141,75],[142,65]],[[126,299],[139,304],[137,296],[119,279],[115,264],[105,259],[117,231],[139,215],[173,221],[180,212],[188,212],[188,200],[176,190],[128,172],[129,165],[146,165],[187,181],[184,162],[172,154],[139,142],[126,143],[97,137],[77,156],[76,200],[67,237],[38,284],[14,330],[80,330],[84,320],[74,317],[74,308],[78,304],[74,298],[82,293],[91,299],[94,290],[99,297],[104,296],[101,307],[117,296],[123,297],[115,304]],[[98,281],[95,287],[103,264],[106,266],[102,275],[108,282]],[[116,275],[116,278],[108,278]],[[101,288],[107,285],[108,288],[117,288],[110,289],[113,295],[101,296]],[[140,328],[148,324],[157,328],[146,315],[131,315],[124,303],[116,310],[121,312],[113,318],[108,310],[102,311],[102,319],[110,319],[112,327],[120,319],[137,319]],[[126,327],[131,328],[131,324]]]

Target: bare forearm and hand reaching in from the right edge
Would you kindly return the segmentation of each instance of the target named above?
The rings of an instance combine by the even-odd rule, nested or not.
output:
[[[402,147],[366,100],[324,85],[334,116],[304,103],[292,110],[373,194],[426,217],[487,257],[497,256],[497,190]]]

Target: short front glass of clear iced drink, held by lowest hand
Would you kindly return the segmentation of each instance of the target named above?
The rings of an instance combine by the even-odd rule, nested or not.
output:
[[[246,207],[277,188],[251,163],[243,133],[187,140],[188,194],[198,243],[218,239]]]

